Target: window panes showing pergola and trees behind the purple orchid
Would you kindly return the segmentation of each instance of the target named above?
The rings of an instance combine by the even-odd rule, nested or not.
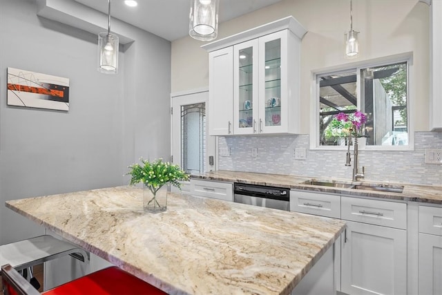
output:
[[[346,145],[349,131],[335,117],[356,110],[367,115],[367,145],[408,145],[407,61],[317,75],[316,81],[320,146]]]

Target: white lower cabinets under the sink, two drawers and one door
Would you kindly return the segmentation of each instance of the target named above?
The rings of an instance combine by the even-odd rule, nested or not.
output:
[[[405,202],[292,190],[290,208],[347,220],[340,248],[335,251],[337,291],[349,295],[407,294]]]

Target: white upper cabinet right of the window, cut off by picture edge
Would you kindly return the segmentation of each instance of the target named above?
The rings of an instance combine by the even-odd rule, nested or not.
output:
[[[442,130],[442,1],[432,1],[430,14],[430,129]]]

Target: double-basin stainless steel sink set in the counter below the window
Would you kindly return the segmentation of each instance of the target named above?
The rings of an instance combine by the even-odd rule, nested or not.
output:
[[[381,191],[385,193],[402,193],[403,186],[390,184],[371,184],[361,182],[338,182],[338,181],[320,181],[307,180],[302,184],[317,185],[321,187],[336,187],[340,189],[361,189],[365,191]]]

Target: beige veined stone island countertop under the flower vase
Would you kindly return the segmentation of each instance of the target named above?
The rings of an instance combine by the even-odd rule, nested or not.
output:
[[[169,294],[289,294],[345,229],[342,220],[175,193],[167,211],[146,213],[136,187],[6,207]]]

